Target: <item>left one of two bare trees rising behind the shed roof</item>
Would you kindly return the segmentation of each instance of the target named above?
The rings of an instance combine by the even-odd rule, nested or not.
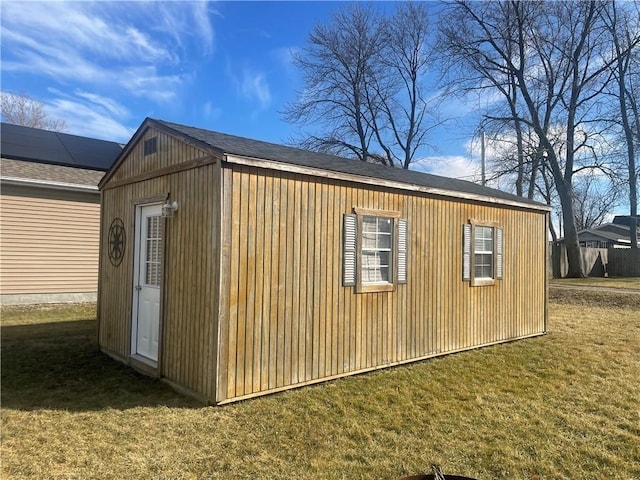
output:
[[[382,49],[380,16],[353,4],[317,25],[309,44],[294,56],[304,77],[300,99],[285,109],[285,119],[301,125],[319,124],[319,135],[307,135],[301,146],[367,161],[374,135],[368,118],[367,77]]]

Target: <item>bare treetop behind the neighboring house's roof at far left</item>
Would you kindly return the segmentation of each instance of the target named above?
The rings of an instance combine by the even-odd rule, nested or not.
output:
[[[63,132],[67,128],[64,120],[50,118],[44,104],[31,97],[9,92],[1,92],[0,96],[3,122],[55,132]]]

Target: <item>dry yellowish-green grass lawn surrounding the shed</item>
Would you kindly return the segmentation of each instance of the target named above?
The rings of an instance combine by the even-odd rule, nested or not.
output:
[[[543,337],[202,407],[102,355],[92,307],[2,312],[3,479],[640,478],[640,295]]]

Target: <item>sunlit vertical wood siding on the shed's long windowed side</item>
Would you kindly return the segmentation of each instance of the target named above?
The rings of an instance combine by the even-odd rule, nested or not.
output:
[[[544,332],[542,212],[243,166],[223,185],[218,402]],[[342,286],[354,207],[408,221],[407,283],[393,292]],[[469,219],[504,229],[493,286],[462,281]]]

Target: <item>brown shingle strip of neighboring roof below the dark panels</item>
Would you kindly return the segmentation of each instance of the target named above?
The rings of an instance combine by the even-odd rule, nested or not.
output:
[[[103,176],[104,172],[98,170],[9,158],[0,160],[0,179],[3,183],[97,191],[98,183]]]

